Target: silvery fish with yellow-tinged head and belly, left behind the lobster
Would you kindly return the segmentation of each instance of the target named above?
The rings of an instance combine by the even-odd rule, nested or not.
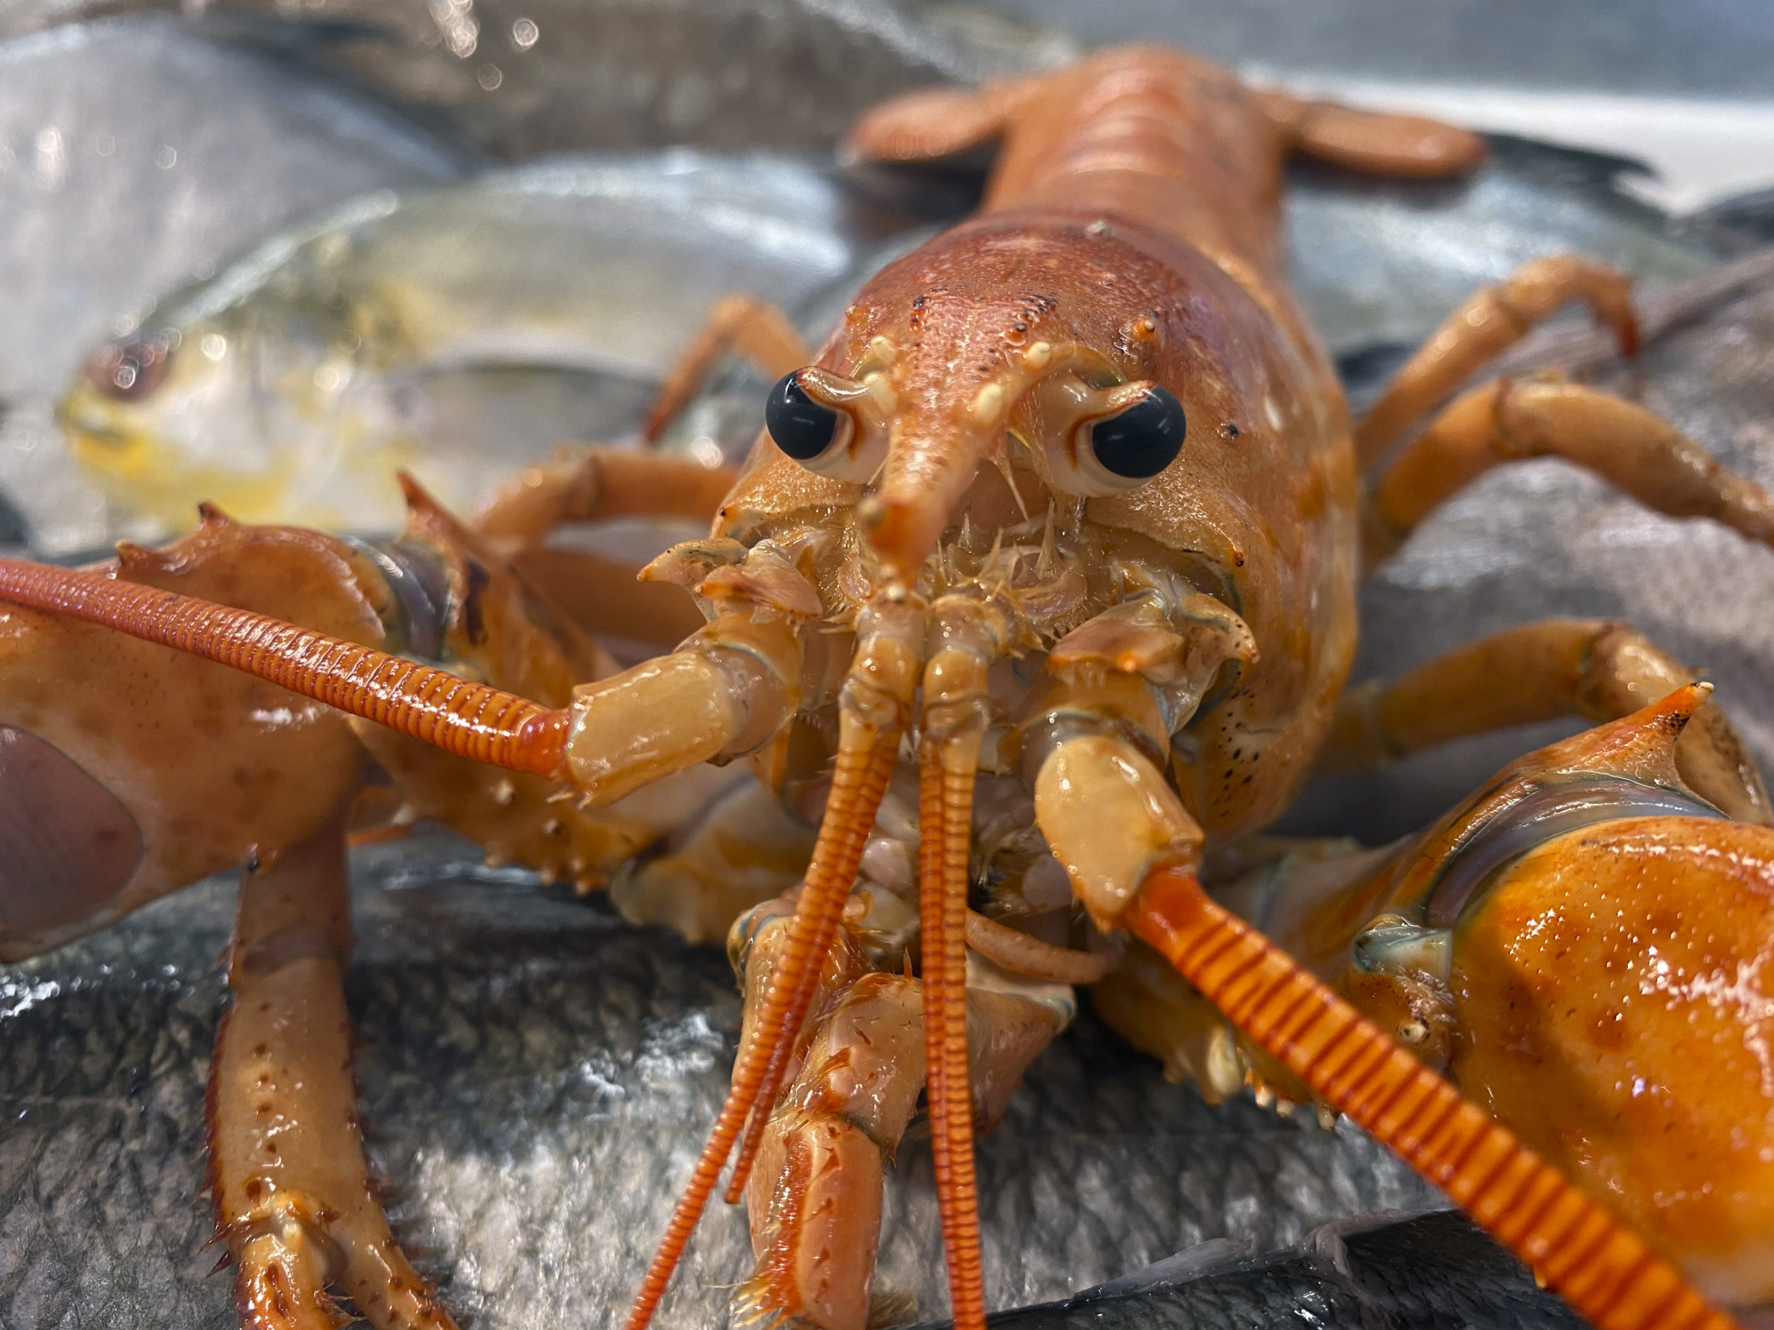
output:
[[[793,305],[869,218],[789,158],[555,158],[360,197],[160,301],[75,376],[62,424],[169,528],[399,523],[397,468],[472,509],[562,440],[626,434],[722,294]]]

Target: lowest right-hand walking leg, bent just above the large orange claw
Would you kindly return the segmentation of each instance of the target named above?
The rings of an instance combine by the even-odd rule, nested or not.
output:
[[[1352,771],[1465,734],[1556,716],[1618,720],[1692,683],[1655,642],[1605,619],[1543,619],[1432,660],[1401,679],[1343,693],[1318,755]],[[1730,818],[1770,821],[1754,759],[1707,699],[1676,745],[1676,768]]]

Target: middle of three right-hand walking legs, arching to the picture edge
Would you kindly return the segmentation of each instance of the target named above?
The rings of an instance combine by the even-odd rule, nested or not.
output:
[[[1653,512],[1714,518],[1774,544],[1774,497],[1643,406],[1579,383],[1497,381],[1456,397],[1375,481],[1364,514],[1368,564],[1480,475],[1524,458],[1563,458]]]

